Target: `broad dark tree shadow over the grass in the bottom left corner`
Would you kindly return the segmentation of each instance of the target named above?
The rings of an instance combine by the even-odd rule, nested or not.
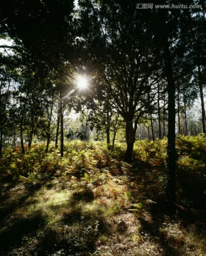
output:
[[[92,190],[85,188],[72,193],[67,207],[60,206],[63,216],[53,227],[48,225],[41,210],[27,217],[15,213],[22,205],[33,204],[26,199],[36,191],[24,190],[13,200],[11,196],[2,198],[0,255],[89,255],[94,252],[99,235],[107,232],[107,225],[100,211],[85,212],[85,206],[94,200]]]

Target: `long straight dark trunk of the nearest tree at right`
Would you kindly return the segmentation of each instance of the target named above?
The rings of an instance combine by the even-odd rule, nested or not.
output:
[[[175,210],[175,171],[176,171],[176,151],[175,151],[175,82],[173,79],[172,60],[168,38],[164,48],[164,58],[166,65],[166,79],[168,82],[168,158],[167,158],[167,185],[166,200],[168,210]]]

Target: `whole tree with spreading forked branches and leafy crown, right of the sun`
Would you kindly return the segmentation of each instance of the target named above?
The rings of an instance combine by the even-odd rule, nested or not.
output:
[[[87,53],[96,63],[101,87],[110,105],[126,123],[125,161],[131,161],[140,117],[151,111],[154,68],[148,50],[146,15],[136,1],[80,1],[80,16]],[[130,15],[127,15],[130,14]],[[85,24],[85,26],[84,26]],[[87,63],[88,64],[88,63]],[[91,63],[89,64],[91,65]],[[94,64],[93,64],[94,66]],[[150,101],[148,101],[150,93]]]

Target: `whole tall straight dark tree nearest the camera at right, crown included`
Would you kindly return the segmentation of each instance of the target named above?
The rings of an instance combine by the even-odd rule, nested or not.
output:
[[[175,1],[173,1],[173,4]],[[170,1],[167,1],[170,4]],[[193,4],[191,2],[191,4]],[[163,78],[167,80],[168,94],[168,159],[167,159],[167,186],[166,200],[169,210],[175,210],[175,91],[178,75],[186,76],[185,55],[188,55],[188,44],[185,43],[190,31],[190,10],[175,9],[168,11],[155,10],[151,23],[153,31],[153,45],[156,59],[163,60]],[[157,31],[156,28],[159,28]],[[182,59],[180,57],[183,57]],[[178,72],[181,70],[181,72]],[[191,70],[191,67],[190,67]],[[178,74],[178,75],[175,75]]]

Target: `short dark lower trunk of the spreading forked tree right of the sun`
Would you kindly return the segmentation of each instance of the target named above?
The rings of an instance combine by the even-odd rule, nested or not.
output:
[[[130,163],[134,149],[136,128],[132,122],[126,122],[126,152],[124,154],[124,161]]]

